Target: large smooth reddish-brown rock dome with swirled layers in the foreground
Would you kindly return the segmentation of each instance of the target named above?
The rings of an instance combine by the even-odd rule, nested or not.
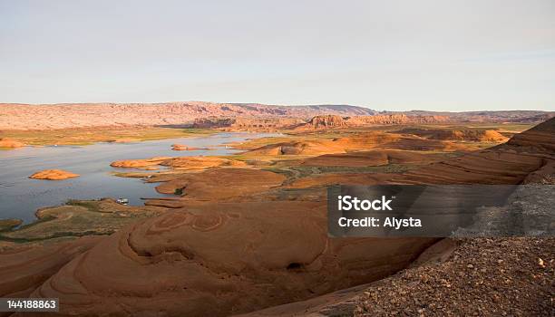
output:
[[[32,296],[59,297],[65,314],[223,316],[373,281],[432,241],[329,239],[325,209],[190,204],[102,240]]]

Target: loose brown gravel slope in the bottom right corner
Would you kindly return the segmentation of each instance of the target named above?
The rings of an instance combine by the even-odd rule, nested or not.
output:
[[[554,316],[555,238],[472,238],[374,283],[355,316]]]

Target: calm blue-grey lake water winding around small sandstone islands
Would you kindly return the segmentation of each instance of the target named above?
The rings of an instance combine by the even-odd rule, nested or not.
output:
[[[112,168],[120,159],[152,157],[214,156],[237,152],[222,146],[229,142],[261,138],[269,133],[219,133],[199,138],[161,139],[135,143],[97,143],[75,147],[25,147],[0,150],[0,219],[19,218],[34,221],[37,208],[63,205],[68,199],[126,197],[130,205],[142,205],[141,197],[164,197],[141,178],[120,178],[112,172],[133,171],[133,168]],[[215,150],[175,151],[171,144]],[[31,179],[43,169],[58,168],[80,174],[64,180]]]

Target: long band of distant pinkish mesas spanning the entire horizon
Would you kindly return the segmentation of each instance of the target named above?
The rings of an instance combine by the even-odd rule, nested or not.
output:
[[[0,130],[187,125],[229,130],[284,130],[316,116],[333,115],[349,126],[366,124],[524,122],[548,120],[553,111],[376,111],[349,105],[282,106],[258,103],[0,103]]]

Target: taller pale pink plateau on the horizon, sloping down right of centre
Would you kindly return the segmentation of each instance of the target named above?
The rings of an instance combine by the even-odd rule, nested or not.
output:
[[[0,130],[48,130],[65,128],[168,126],[192,124],[196,119],[238,119],[240,129],[268,125],[272,120],[308,120],[319,114],[371,115],[375,110],[349,105],[278,106],[258,103],[0,103]],[[269,119],[268,119],[269,118]],[[269,120],[254,123],[253,119]],[[295,119],[294,119],[295,120]],[[227,125],[227,124],[226,124]]]

